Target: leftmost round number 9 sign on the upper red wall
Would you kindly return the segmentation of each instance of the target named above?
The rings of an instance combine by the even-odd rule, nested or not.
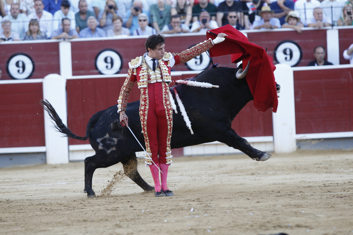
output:
[[[12,79],[28,79],[34,74],[33,59],[24,53],[13,54],[8,58],[6,71]]]

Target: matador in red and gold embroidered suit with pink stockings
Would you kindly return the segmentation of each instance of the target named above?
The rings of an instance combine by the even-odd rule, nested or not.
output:
[[[173,127],[173,109],[169,84],[172,82],[170,69],[201,55],[214,44],[225,40],[225,33],[219,33],[213,40],[208,39],[180,53],[164,51],[163,35],[151,35],[145,42],[146,53],[129,63],[124,85],[121,87],[118,112],[120,122],[128,127],[125,114],[130,91],[137,81],[141,90],[139,115],[146,145],[146,166],[150,167],[155,185],[155,196],[174,196],[167,186],[168,167],[172,165],[170,138]],[[152,160],[155,164],[152,164]],[[161,171],[161,183],[159,180]]]

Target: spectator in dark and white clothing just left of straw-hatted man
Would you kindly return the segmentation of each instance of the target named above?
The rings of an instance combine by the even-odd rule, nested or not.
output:
[[[261,16],[259,16],[261,8],[268,5],[265,0],[252,0],[250,2],[243,1],[242,3],[244,9],[244,26],[245,29],[250,29],[250,25],[252,25],[255,20],[261,19]]]

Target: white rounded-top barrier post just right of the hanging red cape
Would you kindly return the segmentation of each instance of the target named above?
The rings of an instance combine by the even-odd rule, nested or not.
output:
[[[293,69],[288,64],[276,64],[274,74],[281,86],[277,113],[272,113],[274,150],[292,153],[297,150]]]

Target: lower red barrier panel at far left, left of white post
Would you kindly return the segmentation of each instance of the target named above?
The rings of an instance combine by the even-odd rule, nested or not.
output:
[[[1,84],[0,148],[45,146],[42,83]]]

